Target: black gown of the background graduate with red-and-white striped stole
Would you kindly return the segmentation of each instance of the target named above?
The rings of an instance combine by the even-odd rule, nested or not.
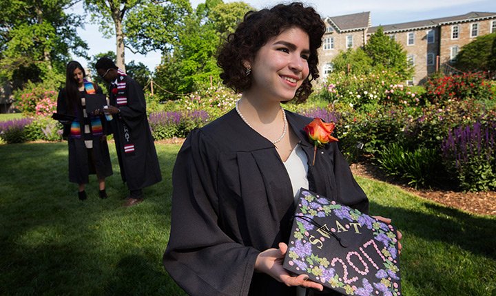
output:
[[[134,79],[118,75],[117,82],[125,87],[110,85],[110,105],[121,113],[111,120],[121,177],[130,190],[143,189],[160,182],[162,175],[158,165],[154,139],[148,125],[143,90]],[[114,94],[112,89],[117,89]]]

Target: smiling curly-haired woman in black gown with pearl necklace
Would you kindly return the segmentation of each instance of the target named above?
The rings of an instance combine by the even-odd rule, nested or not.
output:
[[[248,12],[220,48],[220,78],[242,96],[234,110],[189,134],[172,174],[163,264],[189,295],[323,290],[282,268],[300,189],[293,185],[369,212],[338,145],[319,148],[313,165],[313,141],[303,131],[312,118],[280,105],[309,96],[324,31],[313,8],[279,4]]]

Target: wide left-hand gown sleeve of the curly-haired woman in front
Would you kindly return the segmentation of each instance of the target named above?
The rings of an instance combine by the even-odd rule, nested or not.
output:
[[[218,225],[218,152],[198,129],[180,149],[172,176],[172,221],[165,269],[189,295],[247,295],[260,251]]]

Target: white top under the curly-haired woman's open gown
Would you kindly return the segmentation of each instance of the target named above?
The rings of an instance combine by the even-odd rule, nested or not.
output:
[[[293,187],[293,195],[295,202],[298,201],[298,196],[300,195],[300,188],[309,187],[309,182],[307,178],[308,173],[308,159],[307,155],[301,145],[298,143],[296,147],[289,154],[289,158],[284,162],[286,171],[288,172],[289,179],[291,179],[291,186]],[[296,288],[296,295],[304,296],[307,289],[303,287]]]

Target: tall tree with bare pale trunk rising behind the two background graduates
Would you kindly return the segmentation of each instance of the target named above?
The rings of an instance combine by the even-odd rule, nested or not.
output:
[[[169,50],[176,41],[174,32],[191,11],[187,0],[85,0],[85,8],[105,36],[116,36],[116,65],[122,70],[125,47],[141,54]]]

